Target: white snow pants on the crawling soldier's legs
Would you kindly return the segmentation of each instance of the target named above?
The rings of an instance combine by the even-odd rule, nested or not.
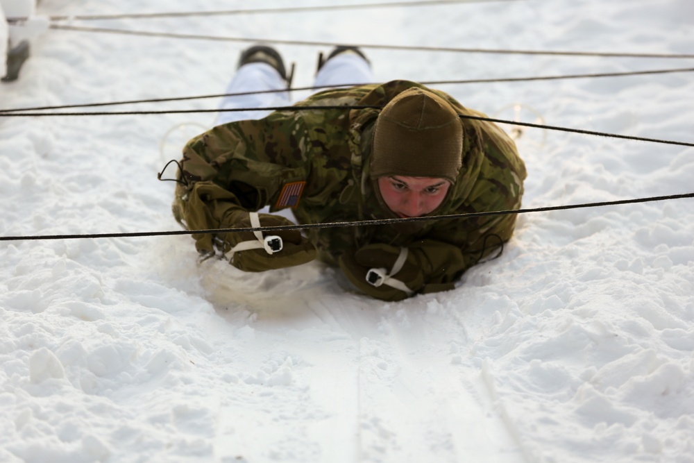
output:
[[[338,85],[373,83],[373,72],[369,63],[354,53],[341,53],[326,61],[316,74],[314,87],[316,92]],[[282,90],[287,83],[282,80],[280,73],[271,65],[264,62],[250,62],[239,67],[234,78],[226,88],[226,93],[249,94],[226,96],[219,106],[220,109],[232,108],[269,108],[272,106],[289,106],[289,92],[251,93],[265,90]],[[261,119],[269,115],[271,110],[262,111],[226,111],[220,112],[215,125],[226,124],[244,119]]]

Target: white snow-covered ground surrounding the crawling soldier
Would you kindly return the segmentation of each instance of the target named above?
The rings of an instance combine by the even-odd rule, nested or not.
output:
[[[43,0],[37,14],[244,7]],[[693,53],[692,18],[691,0],[526,0],[74,24]],[[0,86],[0,108],[221,93],[245,46],[49,31],[19,81]],[[330,51],[278,49],[298,86]],[[694,63],[365,51],[381,81]],[[532,108],[554,126],[694,140],[691,74],[439,88],[489,115],[520,103],[530,122]],[[160,142],[213,120],[0,118],[0,236],[176,230]],[[518,144],[525,207],[693,190],[692,148],[534,130]],[[260,275],[198,265],[183,235],[0,242],[0,461],[694,462],[693,281],[693,199],[525,214],[502,257],[453,291],[401,303],[359,295],[318,263]]]

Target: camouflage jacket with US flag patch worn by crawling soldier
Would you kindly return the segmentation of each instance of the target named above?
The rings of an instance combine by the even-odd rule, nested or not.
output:
[[[409,87],[409,81],[326,90],[296,106],[383,106]],[[432,90],[432,89],[429,89]],[[461,115],[482,116],[448,94]],[[259,120],[231,122],[188,142],[174,199],[174,216],[189,229],[232,226],[230,209],[270,211],[293,207],[301,224],[396,218],[369,178],[371,140],[378,109],[277,111]],[[521,207],[525,165],[514,142],[495,124],[462,119],[462,168],[443,203],[430,215]],[[205,189],[206,210],[190,210],[187,199]],[[428,276],[432,285],[450,285],[463,271],[507,241],[515,214],[409,224],[314,228],[308,237],[319,258],[335,265],[341,253],[365,244],[408,246],[423,239],[437,252],[455,254],[457,264]],[[212,251],[210,235],[194,235],[198,251]],[[443,247],[441,246],[443,245]]]

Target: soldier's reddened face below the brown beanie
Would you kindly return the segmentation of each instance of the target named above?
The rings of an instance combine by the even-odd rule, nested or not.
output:
[[[378,190],[398,217],[429,214],[446,198],[450,182],[445,178],[392,176],[378,178]]]

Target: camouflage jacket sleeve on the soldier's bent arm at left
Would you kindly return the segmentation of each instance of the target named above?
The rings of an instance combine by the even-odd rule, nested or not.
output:
[[[189,230],[230,228],[231,212],[273,204],[284,185],[305,182],[308,140],[297,112],[274,112],[198,135],[183,150],[174,217]],[[213,235],[194,237],[198,251],[213,251]]]

